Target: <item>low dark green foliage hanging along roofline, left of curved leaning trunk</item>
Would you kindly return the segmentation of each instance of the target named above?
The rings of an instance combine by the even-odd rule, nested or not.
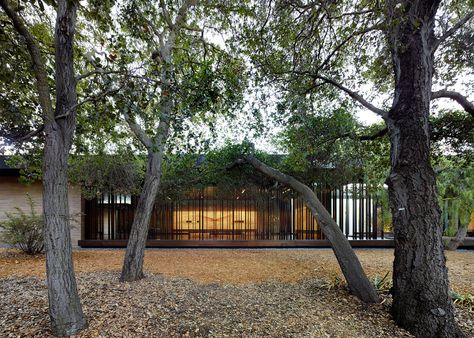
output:
[[[247,143],[227,144],[205,153],[166,153],[162,167],[159,198],[179,199],[195,189],[216,187],[226,195],[241,193],[242,187],[271,188],[274,182],[249,165],[235,162],[249,151]],[[283,156],[263,152],[254,154],[274,167],[282,165]],[[86,198],[104,192],[140,193],[146,158],[130,153],[120,155],[74,156],[69,172],[72,182],[79,184]]]

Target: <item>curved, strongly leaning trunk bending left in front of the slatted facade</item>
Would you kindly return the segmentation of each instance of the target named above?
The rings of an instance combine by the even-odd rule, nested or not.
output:
[[[377,292],[367,278],[359,259],[352,249],[346,236],[339,226],[332,219],[331,215],[318,200],[316,194],[305,184],[295,178],[283,174],[274,168],[267,166],[253,156],[246,156],[245,161],[250,163],[263,174],[277,180],[280,183],[290,186],[297,191],[304,199],[306,205],[316,218],[318,225],[327,237],[336,255],[342,273],[346,278],[347,285],[351,293],[366,303],[376,303],[379,301]]]

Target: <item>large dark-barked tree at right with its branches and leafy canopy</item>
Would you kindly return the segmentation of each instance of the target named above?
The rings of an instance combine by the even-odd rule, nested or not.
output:
[[[324,96],[337,100],[335,91],[340,91],[385,121],[391,145],[387,183],[395,235],[392,313],[400,326],[418,337],[463,336],[448,294],[428,117],[431,100],[440,97],[454,99],[470,112],[466,96],[432,92],[432,81],[436,52],[463,27],[469,29],[466,23],[474,11],[457,2],[443,7],[449,11],[458,6],[464,16],[451,28],[446,28],[450,21],[444,21],[436,27],[441,31],[436,36],[439,6],[440,1],[423,0],[360,5],[270,2],[257,9],[258,23],[252,22],[257,28],[248,31],[256,50],[254,63],[272,83],[283,84],[292,102],[334,105]],[[369,78],[378,89],[391,92],[393,101],[385,100],[384,107],[378,108],[344,86],[343,78]]]

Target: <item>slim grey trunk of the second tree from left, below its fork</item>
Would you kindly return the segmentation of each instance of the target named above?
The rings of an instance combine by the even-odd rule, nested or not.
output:
[[[138,200],[132,229],[128,239],[127,250],[123,261],[120,281],[131,282],[142,279],[143,258],[145,255],[146,239],[150,224],[156,194],[160,186],[161,162],[163,150],[160,152],[149,152],[148,164],[140,199]]]

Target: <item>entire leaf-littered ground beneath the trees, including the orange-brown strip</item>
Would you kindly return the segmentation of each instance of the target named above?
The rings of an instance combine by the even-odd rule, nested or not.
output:
[[[393,250],[357,250],[370,278]],[[147,278],[119,283],[123,250],[74,252],[89,328],[83,337],[409,337],[390,297],[366,305],[335,288],[331,250],[147,250]],[[474,294],[474,252],[448,252],[451,288]],[[0,251],[0,336],[50,335],[44,258]],[[474,337],[474,313],[457,306]]]

